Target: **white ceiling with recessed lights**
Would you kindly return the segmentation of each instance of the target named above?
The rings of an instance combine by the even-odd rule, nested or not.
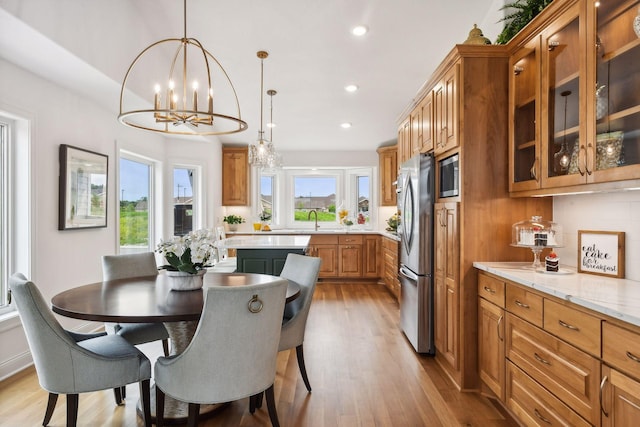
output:
[[[220,137],[223,142],[257,138],[256,52],[266,50],[265,90],[278,92],[273,98],[277,150],[372,150],[395,140],[400,114],[473,24],[495,39],[502,4],[188,0],[187,36],[224,66],[249,123],[245,132]],[[0,0],[0,56],[80,92],[99,93],[97,99],[117,114],[113,92],[129,64],[152,42],[182,36],[182,10],[181,0]],[[358,24],[369,27],[364,37],[350,33]],[[21,43],[11,45],[16,33]],[[102,81],[101,89],[90,74]],[[82,81],[84,88],[78,87]],[[350,83],[360,90],[347,93],[344,86]],[[265,96],[265,123],[268,114]],[[342,122],[353,127],[342,129]]]

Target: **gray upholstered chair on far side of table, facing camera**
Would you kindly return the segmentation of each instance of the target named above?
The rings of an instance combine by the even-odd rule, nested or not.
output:
[[[102,280],[155,276],[158,274],[153,252],[102,257]],[[115,333],[133,345],[162,341],[164,355],[169,355],[169,333],[162,323],[106,323],[108,333]]]

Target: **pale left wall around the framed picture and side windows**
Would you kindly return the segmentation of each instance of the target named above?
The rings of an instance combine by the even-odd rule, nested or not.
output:
[[[204,225],[215,223],[220,206],[221,146],[217,141],[165,140],[159,134],[121,125],[117,113],[92,100],[0,59],[0,111],[31,120],[32,144],[32,279],[45,299],[85,283],[101,280],[101,256],[117,252],[118,147],[144,154],[167,168],[181,162],[203,172]],[[117,107],[117,106],[114,106]],[[107,228],[58,231],[58,149],[70,144],[109,156]],[[171,179],[172,174],[161,174]],[[172,182],[164,184],[171,188]],[[169,193],[170,194],[170,193]],[[165,203],[166,205],[166,203]],[[165,217],[172,218],[169,213]],[[167,216],[168,215],[168,216]],[[170,233],[171,223],[166,221]],[[162,236],[159,236],[162,237]],[[59,318],[72,329],[95,327]],[[0,378],[26,366],[30,357],[16,319],[0,321]],[[10,345],[7,345],[10,343]]]

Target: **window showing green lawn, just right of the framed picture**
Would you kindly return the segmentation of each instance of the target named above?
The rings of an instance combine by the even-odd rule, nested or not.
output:
[[[120,155],[120,253],[153,251],[153,176],[151,161]]]

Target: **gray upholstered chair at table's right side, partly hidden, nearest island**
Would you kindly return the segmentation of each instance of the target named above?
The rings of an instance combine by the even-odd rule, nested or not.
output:
[[[316,282],[320,272],[322,260],[298,254],[288,254],[280,277],[291,280],[300,285],[300,296],[285,306],[282,332],[280,334],[280,346],[278,351],[296,349],[298,368],[302,374],[302,380],[308,391],[311,391],[307,370],[304,365],[304,331],[307,327],[307,317],[316,290]]]

